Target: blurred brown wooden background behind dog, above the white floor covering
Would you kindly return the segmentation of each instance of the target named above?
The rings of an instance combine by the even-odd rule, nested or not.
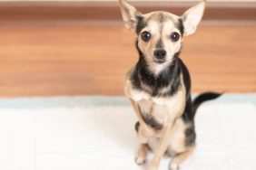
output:
[[[193,0],[133,0],[182,14]],[[0,97],[123,95],[138,56],[116,0],[0,1]],[[256,92],[256,1],[208,0],[182,60],[192,92]]]

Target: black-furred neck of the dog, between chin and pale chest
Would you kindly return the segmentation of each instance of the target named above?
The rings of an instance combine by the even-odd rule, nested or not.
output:
[[[139,61],[134,68],[131,78],[133,88],[148,92],[153,97],[172,96],[179,90],[181,86],[179,53],[176,53],[173,56],[172,62],[157,75],[149,69],[144,60],[143,53],[139,51],[139,55]],[[162,89],[165,89],[164,92],[162,92]]]

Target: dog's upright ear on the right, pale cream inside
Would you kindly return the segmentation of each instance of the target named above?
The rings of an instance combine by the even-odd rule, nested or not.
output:
[[[182,15],[185,36],[195,32],[197,25],[202,20],[204,8],[205,1],[193,6]]]

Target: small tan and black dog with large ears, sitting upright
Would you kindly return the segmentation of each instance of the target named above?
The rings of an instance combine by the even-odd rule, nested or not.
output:
[[[180,58],[182,39],[195,32],[205,1],[182,16],[162,11],[142,14],[126,0],[119,4],[125,27],[137,35],[139,54],[124,83],[124,94],[138,118],[135,129],[141,144],[135,162],[143,165],[152,150],[150,170],[158,169],[164,154],[172,156],[170,170],[178,170],[196,146],[196,109],[221,96],[205,92],[192,101],[190,73]]]

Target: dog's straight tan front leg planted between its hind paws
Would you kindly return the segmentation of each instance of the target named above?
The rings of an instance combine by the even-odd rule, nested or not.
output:
[[[157,150],[154,153],[152,164],[149,168],[150,170],[158,169],[162,156],[164,155],[167,147],[169,146],[172,134],[177,127],[175,122],[176,120],[172,121],[172,123],[168,124],[168,126],[165,127],[163,136],[160,138]]]

